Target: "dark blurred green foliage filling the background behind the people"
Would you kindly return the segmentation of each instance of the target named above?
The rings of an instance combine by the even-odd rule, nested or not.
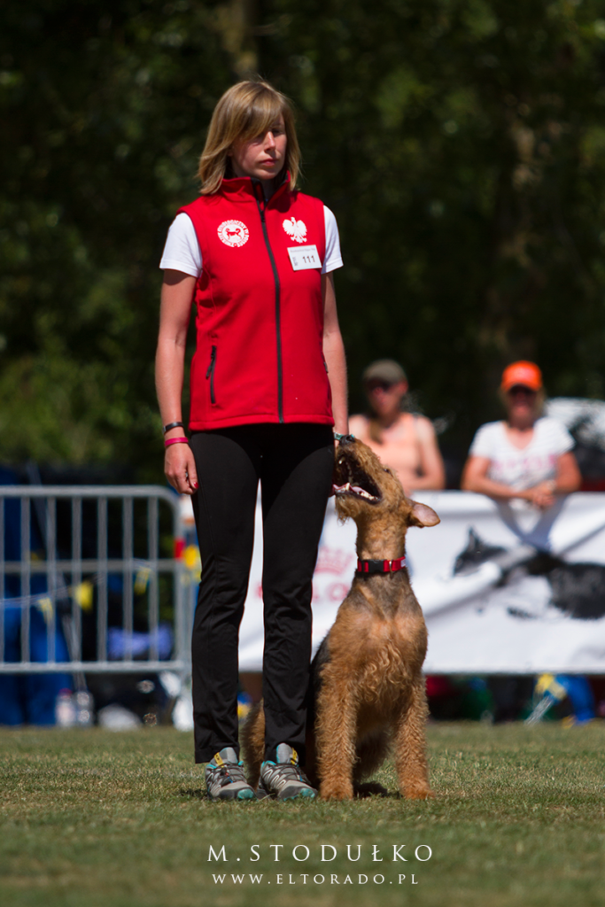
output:
[[[4,0],[0,20],[0,460],[161,481],[157,266],[250,73],[294,100],[303,189],[337,215],[353,411],[378,356],[458,456],[513,358],[551,395],[605,395],[598,0]]]

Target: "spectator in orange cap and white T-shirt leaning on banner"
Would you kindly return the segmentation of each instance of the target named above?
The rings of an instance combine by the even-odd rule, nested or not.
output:
[[[500,385],[506,419],[482,425],[464,466],[461,487],[501,501],[520,498],[545,510],[558,494],[580,487],[573,438],[557,420],[542,416],[542,372],[513,362]]]

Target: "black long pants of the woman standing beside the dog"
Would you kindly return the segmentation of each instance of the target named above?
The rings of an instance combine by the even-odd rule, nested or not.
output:
[[[304,763],[311,580],[334,464],[328,425],[258,424],[191,437],[202,563],[193,624],[195,761],[239,753],[239,623],[248,590],[259,480],[263,512],[265,758],[278,744]]]

